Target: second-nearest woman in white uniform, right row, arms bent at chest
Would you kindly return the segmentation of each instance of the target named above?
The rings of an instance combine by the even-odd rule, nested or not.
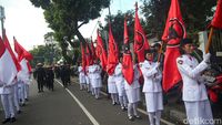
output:
[[[161,111],[163,110],[162,73],[159,70],[159,63],[153,62],[153,53],[151,50],[145,53],[145,61],[141,64],[141,71],[144,77],[142,92],[145,95],[150,125],[160,125]]]

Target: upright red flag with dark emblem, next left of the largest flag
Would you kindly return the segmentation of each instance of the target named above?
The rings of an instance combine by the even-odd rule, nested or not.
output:
[[[143,62],[144,59],[144,50],[149,49],[148,39],[140,23],[140,19],[138,17],[138,3],[135,2],[135,22],[134,22],[134,52],[138,55],[138,61]]]

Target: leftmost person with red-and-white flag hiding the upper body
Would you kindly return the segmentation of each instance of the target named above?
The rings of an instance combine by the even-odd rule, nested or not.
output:
[[[8,122],[16,122],[13,101],[12,101],[12,85],[16,83],[16,76],[18,73],[17,66],[13,59],[6,48],[2,39],[0,38],[0,95],[1,103],[4,111],[4,121],[2,124]]]

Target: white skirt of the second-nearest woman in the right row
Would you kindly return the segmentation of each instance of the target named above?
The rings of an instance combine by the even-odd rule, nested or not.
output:
[[[144,94],[148,113],[163,110],[162,92],[147,92]]]

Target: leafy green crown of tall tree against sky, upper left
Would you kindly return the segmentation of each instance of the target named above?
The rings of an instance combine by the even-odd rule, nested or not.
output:
[[[67,37],[67,42],[73,46],[71,39],[77,35],[85,42],[79,31],[89,20],[100,17],[100,11],[110,4],[110,0],[30,0],[36,7],[44,9],[44,18],[49,28],[54,30],[57,39]],[[51,1],[51,2],[50,2]],[[61,35],[61,37],[60,37]],[[62,41],[62,40],[60,40]]]

